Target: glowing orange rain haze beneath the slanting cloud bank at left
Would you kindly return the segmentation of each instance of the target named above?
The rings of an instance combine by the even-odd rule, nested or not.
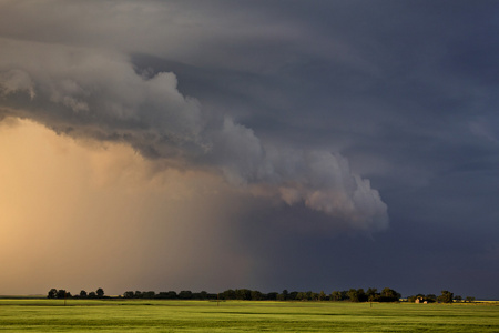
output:
[[[226,251],[234,212],[221,210],[221,179],[155,171],[126,145],[77,143],[31,121],[2,124],[0,152],[0,294],[202,289],[226,262],[225,278],[248,278],[251,260]]]

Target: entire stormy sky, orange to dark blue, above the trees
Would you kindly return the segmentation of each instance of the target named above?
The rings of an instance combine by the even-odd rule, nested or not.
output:
[[[0,294],[499,299],[497,1],[0,0]]]

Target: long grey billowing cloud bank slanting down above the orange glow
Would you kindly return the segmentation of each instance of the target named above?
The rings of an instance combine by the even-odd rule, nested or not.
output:
[[[387,225],[386,204],[345,158],[263,143],[227,117],[203,111],[172,72],[134,70],[102,49],[0,40],[3,113],[74,138],[124,142],[180,169],[214,170],[238,186],[265,186],[354,229]]]

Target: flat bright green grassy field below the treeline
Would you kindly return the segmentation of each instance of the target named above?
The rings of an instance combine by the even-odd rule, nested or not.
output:
[[[499,332],[499,304],[0,300],[10,332]]]

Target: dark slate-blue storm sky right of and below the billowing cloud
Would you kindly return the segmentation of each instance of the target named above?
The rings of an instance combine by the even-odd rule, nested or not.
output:
[[[215,80],[213,93],[198,93],[206,105],[236,108],[237,119],[262,138],[340,151],[354,170],[381,190],[397,226],[373,243],[350,239],[333,241],[338,245],[325,241],[324,246],[307,246],[304,235],[302,242],[288,240],[277,228],[272,234],[285,244],[282,253],[294,253],[293,262],[285,254],[269,261],[286,262],[282,269],[287,268],[284,271],[289,274],[296,273],[291,269],[294,265],[309,264],[314,271],[330,263],[330,270],[322,270],[324,280],[345,287],[357,276],[357,283],[365,286],[369,281],[397,285],[406,280],[400,284],[403,291],[438,293],[448,282],[464,293],[486,295],[476,284],[491,290],[498,274],[491,260],[499,232],[497,3],[287,3],[266,6],[262,16],[293,22],[309,38],[296,34],[295,43],[285,49],[252,44],[251,51],[244,40],[233,41],[231,50],[237,50],[238,57],[261,47],[267,59],[282,60],[281,65],[274,71],[263,65],[261,70],[228,68]],[[203,81],[206,69],[196,72],[193,67],[172,65],[189,82],[183,89],[196,94],[196,83]],[[312,216],[302,216],[307,218]],[[255,224],[248,225],[262,234]],[[363,250],[353,251],[350,242]],[[269,240],[263,243],[276,248]],[[258,252],[253,245],[248,241],[247,246]],[[353,252],[335,255],[345,248]],[[310,258],[317,262],[310,263]],[[361,264],[354,270],[352,262]],[[389,279],[383,273],[415,266],[439,272],[439,278],[409,279],[400,273]],[[452,279],[467,268],[466,276]],[[366,270],[375,273],[366,275]],[[276,279],[286,281],[286,275]],[[305,275],[301,279],[308,281],[310,276]]]

